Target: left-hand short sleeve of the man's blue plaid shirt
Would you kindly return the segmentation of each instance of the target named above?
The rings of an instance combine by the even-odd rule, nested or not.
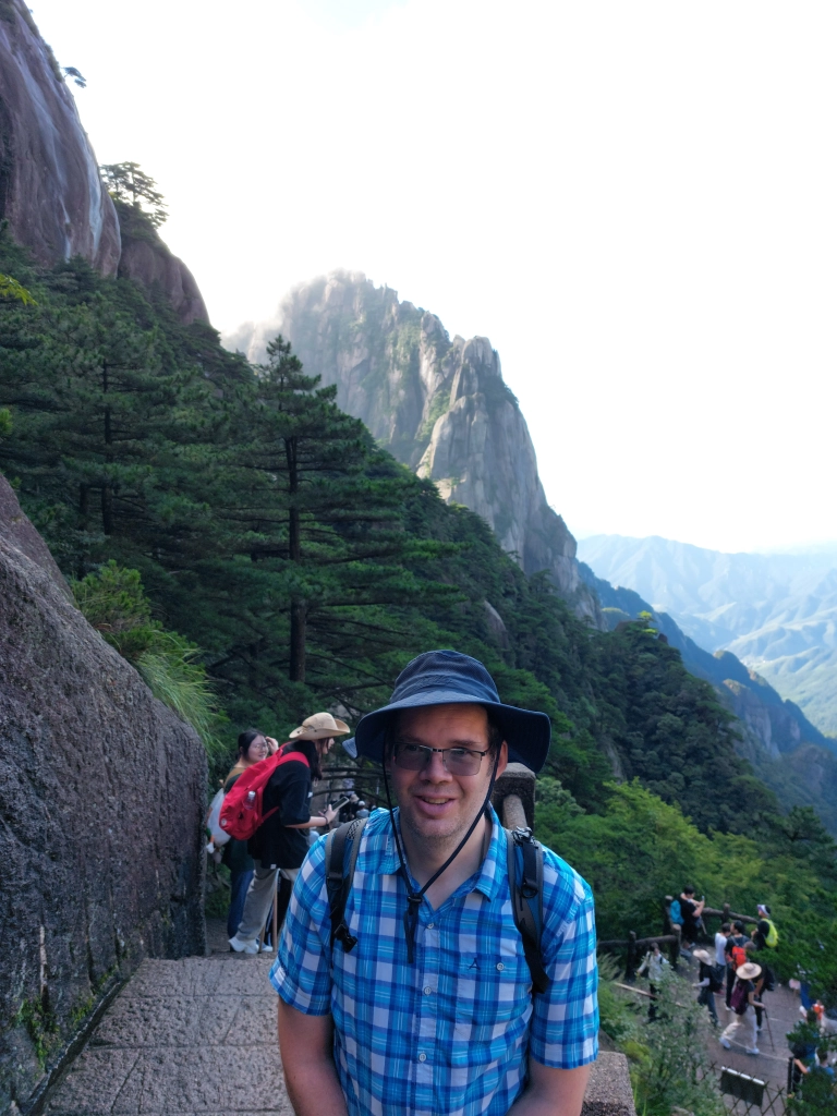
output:
[[[321,837],[299,869],[270,970],[270,983],[282,1000],[306,1016],[327,1016],[331,1010],[325,848]]]

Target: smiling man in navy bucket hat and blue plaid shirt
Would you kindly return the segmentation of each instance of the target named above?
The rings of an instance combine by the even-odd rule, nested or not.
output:
[[[485,667],[453,651],[413,660],[359,722],[357,753],[383,764],[397,808],[375,810],[349,846],[334,943],[328,841],[294,887],[271,981],[297,1116],[580,1113],[598,1033],[590,891],[527,831],[512,887],[490,806],[509,759],[540,770],[549,733],[546,714],[503,705]],[[542,899],[539,947],[537,901],[526,940],[512,916],[522,875]]]

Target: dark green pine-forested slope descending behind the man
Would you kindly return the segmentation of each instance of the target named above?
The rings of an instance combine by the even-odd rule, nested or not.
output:
[[[36,300],[0,300],[0,469],[65,574],[118,597],[113,616],[136,589],[113,571],[138,571],[143,631],[151,620],[156,638],[194,646],[222,742],[252,723],[282,737],[337,703],[357,718],[410,657],[453,646],[488,664],[504,700],[552,716],[548,776],[560,783],[542,781],[539,825],[578,846],[608,931],[628,914],[653,920],[632,929],[656,929],[650,904],[619,913],[616,850],[636,826],[652,840],[647,819],[667,810],[685,839],[742,835],[724,838],[719,887],[763,857],[780,908],[792,878],[795,921],[829,933],[830,839],[810,814],[780,817],[735,756],[730,714],[653,628],[591,629],[478,516],[376,448],[286,344],[253,368],[153,287],[78,260],[36,267],[8,239],[0,272]],[[100,625],[131,657],[118,628]],[[610,844],[596,852],[603,826]],[[768,862],[791,867],[778,878]],[[682,886],[682,858],[657,867],[655,888]]]

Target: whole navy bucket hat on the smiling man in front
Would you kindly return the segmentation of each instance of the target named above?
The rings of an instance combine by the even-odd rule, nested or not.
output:
[[[429,651],[407,663],[395,682],[389,704],[360,719],[354,739],[356,753],[383,762],[387,724],[403,709],[458,704],[490,709],[509,745],[509,760],[540,771],[551,733],[547,714],[503,705],[482,663],[459,651]]]

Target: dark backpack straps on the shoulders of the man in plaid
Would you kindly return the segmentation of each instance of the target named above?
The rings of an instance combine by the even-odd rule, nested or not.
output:
[[[262,761],[263,762],[263,761]],[[326,838],[326,891],[331,917],[331,949],[339,942],[346,953],[357,939],[346,925],[346,903],[355,877],[360,834],[366,818],[355,818],[333,829]],[[546,992],[549,977],[540,953],[543,924],[543,849],[531,829],[506,830],[508,870],[514,925],[523,939],[523,954],[532,978],[532,995]]]

